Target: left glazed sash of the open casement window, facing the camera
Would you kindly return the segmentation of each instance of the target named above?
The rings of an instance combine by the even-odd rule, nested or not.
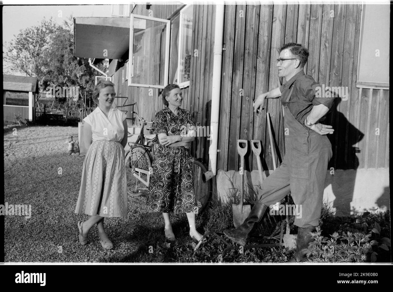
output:
[[[131,14],[129,86],[167,85],[170,24],[170,20]]]

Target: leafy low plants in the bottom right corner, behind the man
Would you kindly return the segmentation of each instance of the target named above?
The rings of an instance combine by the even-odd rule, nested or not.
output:
[[[326,216],[321,226],[322,228],[325,226],[327,230],[335,226],[335,231],[327,237],[323,235],[322,228],[317,228],[313,233],[315,241],[310,244],[307,252],[310,261],[389,262],[391,244],[390,239],[386,237],[390,232],[389,212],[383,214],[364,212],[361,216],[349,217]]]

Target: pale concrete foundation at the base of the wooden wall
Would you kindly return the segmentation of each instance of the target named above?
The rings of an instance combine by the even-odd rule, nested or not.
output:
[[[272,173],[272,172],[270,172]],[[327,171],[323,200],[327,202],[336,216],[347,216],[355,211],[376,213],[387,211],[389,199],[389,169],[348,169]],[[233,185],[232,185],[232,183]],[[258,171],[245,172],[246,190],[252,187],[257,191]],[[217,193],[224,202],[230,200],[231,191],[240,189],[239,172],[222,171],[217,173]]]

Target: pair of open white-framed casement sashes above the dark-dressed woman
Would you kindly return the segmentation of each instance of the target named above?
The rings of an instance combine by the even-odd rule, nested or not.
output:
[[[171,20],[131,14],[129,86],[190,86],[193,5]],[[131,43],[132,42],[132,43]]]

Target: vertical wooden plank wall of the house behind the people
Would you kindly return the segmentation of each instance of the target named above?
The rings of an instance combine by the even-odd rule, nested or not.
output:
[[[169,18],[182,5],[152,5],[153,17]],[[135,14],[148,15],[145,5]],[[183,90],[183,107],[190,110],[199,126],[210,124],[214,5],[194,5],[191,86]],[[222,64],[222,93],[219,124],[219,169],[238,169],[238,139],[261,140],[264,168],[273,169],[266,111],[270,113],[276,149],[285,153],[283,119],[278,99],[266,101],[261,114],[254,115],[252,103],[257,96],[280,85],[276,59],[286,42],[298,42],[310,51],[305,72],[325,86],[344,86],[348,99],[337,98],[326,123],[335,132],[329,135],[333,158],[329,167],[336,169],[388,167],[389,165],[389,90],[356,88],[356,70],[360,37],[360,4],[288,4],[226,5]],[[136,112],[148,120],[163,108],[158,90],[128,87],[121,83],[124,64],[114,60],[117,94],[128,96]],[[118,68],[116,68],[118,67]],[[121,99],[124,103],[124,99]],[[130,114],[128,114],[130,117]],[[376,128],[379,135],[376,135]],[[250,146],[250,145],[249,145]],[[209,140],[198,138],[193,149],[208,164]],[[251,152],[251,151],[249,151]],[[277,165],[279,158],[277,157]],[[246,157],[246,169],[257,169],[255,157]]]

